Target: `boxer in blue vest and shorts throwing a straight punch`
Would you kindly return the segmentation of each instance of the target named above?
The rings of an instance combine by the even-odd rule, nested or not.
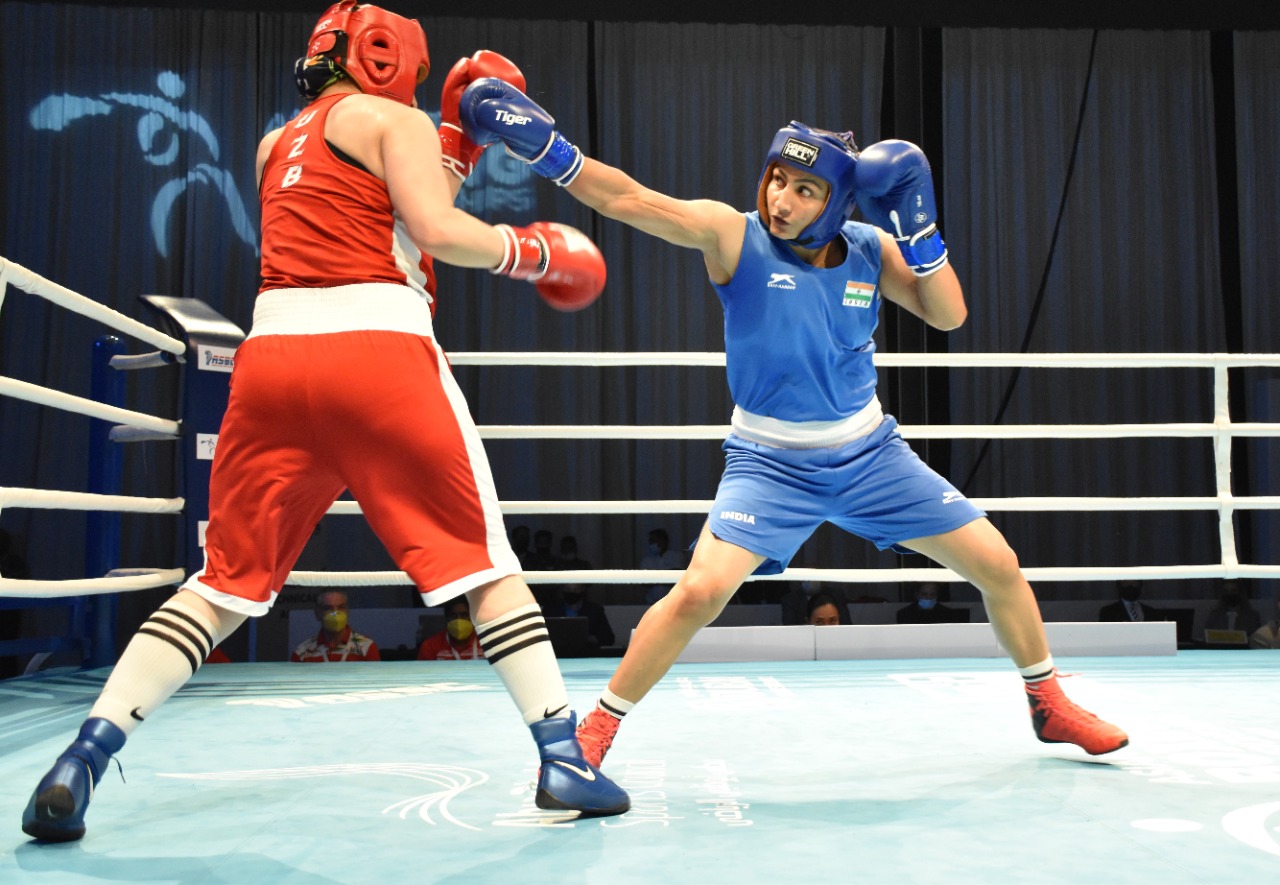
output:
[[[607,218],[701,252],[724,309],[732,434],[692,561],[641,619],[596,708],[579,727],[599,763],[622,717],[751,574],[778,572],[824,521],[881,549],[923,553],[982,590],[1025,680],[1036,735],[1092,754],[1129,743],[1059,686],[1039,606],[986,515],[920,461],[876,398],[872,333],[882,300],[936,329],[968,315],[938,233],[919,147],[792,122],[773,140],[755,211],[676,200],[585,158],[513,86],[479,79],[462,128],[500,141]],[[867,224],[850,220],[854,206]]]

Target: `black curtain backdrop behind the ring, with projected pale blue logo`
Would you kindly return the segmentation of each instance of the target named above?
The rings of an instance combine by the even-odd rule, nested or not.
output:
[[[881,123],[886,95],[897,88],[897,108],[920,104],[936,115],[925,124],[937,129],[928,143],[941,182],[941,228],[969,297],[970,320],[941,338],[943,348],[1018,351],[1029,334],[1033,352],[1280,350],[1268,287],[1280,261],[1277,32],[1242,31],[1224,44],[1207,29],[1107,29],[1098,33],[1091,73],[1088,29],[925,28],[924,63],[940,76],[923,78],[924,93],[909,96],[900,83],[910,60],[887,50],[901,28],[882,22],[420,14],[434,63],[419,93],[426,110],[438,110],[454,59],[498,50],[521,65],[531,95],[589,154],[675,196],[744,210],[754,205],[763,152],[778,127],[800,119],[847,128],[864,146],[900,136]],[[155,318],[138,296],[159,292],[201,298],[247,329],[257,287],[255,146],[298,108],[292,64],[314,20],[306,12],[0,4],[0,255],[148,323]],[[1224,120],[1231,123],[1225,133]],[[1065,215],[1051,247],[1073,147]],[[1235,172],[1225,197],[1224,169]],[[722,350],[721,313],[696,254],[593,216],[499,150],[485,155],[461,205],[490,222],[554,219],[588,231],[608,260],[609,283],[596,305],[563,315],[526,284],[440,268],[436,328],[447,351]],[[1028,332],[1042,278],[1043,302]],[[0,375],[87,396],[90,351],[102,332],[9,289],[0,305]],[[719,424],[732,407],[719,369],[460,366],[457,374],[481,424]],[[997,369],[945,373],[945,414],[957,424],[993,420],[1009,378]],[[1243,407],[1238,420],[1280,420],[1271,373],[1239,373],[1233,384]],[[129,407],[173,416],[166,373],[133,373],[129,389]],[[1202,370],[1024,370],[1002,420],[1211,415]],[[87,429],[88,419],[0,398],[0,485],[83,491]],[[709,499],[722,466],[716,442],[490,442],[488,450],[506,499]],[[966,492],[974,497],[1213,493],[1202,441],[996,442],[979,450],[979,442],[957,441],[929,457],[957,483],[972,473]],[[1235,492],[1275,494],[1271,443],[1251,443],[1247,453]],[[164,444],[131,446],[125,464],[125,493],[174,493]],[[1024,565],[1217,556],[1212,514],[992,517]],[[122,564],[179,565],[173,521],[127,516]],[[701,519],[508,521],[550,529],[557,540],[575,534],[582,558],[596,566],[634,567],[649,528],[666,526],[684,546]],[[83,515],[10,508],[0,528],[20,540],[32,576],[83,576]],[[1253,516],[1243,528],[1253,561],[1276,561],[1272,523]],[[897,564],[826,529],[796,560]],[[385,569],[389,558],[362,520],[329,517],[300,565]],[[1088,584],[1038,589],[1042,598],[1108,596]],[[1148,596],[1207,592],[1170,583]],[[608,593],[602,588],[598,597],[608,601]]]

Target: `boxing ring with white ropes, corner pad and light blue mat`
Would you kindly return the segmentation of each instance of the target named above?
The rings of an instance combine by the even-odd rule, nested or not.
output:
[[[178,515],[187,561],[81,580],[0,578],[0,596],[42,602],[174,585],[195,567],[234,327],[196,305],[164,334],[0,260],[5,286],[76,310],[156,348],[116,365],[183,373],[178,419],[141,415],[0,378],[0,394],[115,423],[119,441],[183,447],[182,494],[140,498],[0,489],[0,508]],[[156,296],[148,296],[156,297]],[[198,302],[197,302],[198,304]],[[191,318],[198,316],[200,321]],[[221,343],[210,345],[212,329]],[[211,353],[211,356],[210,356]],[[166,356],[165,356],[166,355]],[[200,357],[200,359],[197,359]],[[114,357],[113,357],[114,359]],[[717,353],[453,353],[454,365],[723,365]],[[1280,355],[882,353],[884,366],[1196,368],[1213,375],[1213,414],[1192,424],[904,425],[909,439],[1197,437],[1212,442],[1206,497],[975,498],[1012,510],[1202,510],[1217,514],[1219,561],[1188,566],[1052,566],[1037,580],[1280,578],[1240,562],[1233,515],[1280,497],[1231,494],[1231,443],[1280,425],[1231,420],[1228,371]],[[166,369],[168,370],[168,369]],[[209,393],[212,391],[212,393]],[[480,428],[486,439],[721,439],[727,425]],[[204,437],[204,439],[201,439]],[[710,501],[508,501],[508,515],[698,514]],[[334,516],[358,514],[338,502]],[[673,581],[676,571],[585,570],[593,584]],[[563,583],[566,572],[529,575]],[[773,580],[960,580],[943,569],[791,569]],[[769,579],[765,579],[769,580]],[[401,572],[296,571],[298,587],[407,584]],[[977,626],[977,625],[975,625]],[[844,628],[829,628],[840,630]],[[3,648],[3,647],[0,647]],[[8,653],[15,653],[12,648]],[[204,667],[120,753],[82,843],[36,845],[18,829],[27,792],[61,751],[109,674],[49,670],[0,683],[0,881],[867,881],[1253,882],[1280,858],[1280,720],[1266,652],[1170,657],[1057,656],[1082,704],[1125,727],[1107,757],[1034,740],[1007,661],[809,660],[677,663],[636,708],[605,771],[628,789],[617,818],[538,812],[536,757],[483,662]],[[613,661],[563,662],[586,710]],[[444,697],[448,695],[448,697]],[[374,735],[380,735],[378,739]]]

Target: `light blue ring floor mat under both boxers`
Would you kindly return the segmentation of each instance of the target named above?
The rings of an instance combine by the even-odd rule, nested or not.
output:
[[[616,661],[563,662],[594,702]],[[205,667],[99,786],[19,829],[105,671],[0,683],[0,882],[1268,882],[1280,654],[1060,658],[1125,727],[1041,744],[989,660],[678,665],[623,724],[622,817],[552,824],[485,663]]]

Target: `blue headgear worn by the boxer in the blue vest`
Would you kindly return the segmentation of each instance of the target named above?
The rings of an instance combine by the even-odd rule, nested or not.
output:
[[[854,173],[858,169],[858,145],[854,143],[854,133],[814,129],[796,120],[778,129],[769,146],[769,155],[764,158],[764,170],[760,173],[760,187],[755,199],[760,218],[765,219],[765,227],[769,210],[764,193],[773,175],[773,165],[778,161],[808,169],[831,186],[822,213],[791,241],[808,248],[826,246],[840,236],[840,228],[854,214],[856,192]]]

